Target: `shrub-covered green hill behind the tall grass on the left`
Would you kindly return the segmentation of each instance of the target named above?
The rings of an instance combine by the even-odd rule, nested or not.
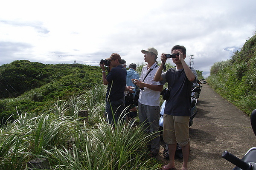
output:
[[[17,111],[40,113],[58,99],[83,94],[101,82],[101,76],[100,67],[81,64],[45,65],[19,60],[1,65],[0,120],[5,122]]]

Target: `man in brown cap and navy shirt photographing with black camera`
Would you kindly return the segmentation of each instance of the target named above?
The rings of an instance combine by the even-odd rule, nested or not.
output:
[[[125,86],[126,86],[126,69],[121,65],[119,54],[113,53],[106,60],[110,61],[110,72],[106,76],[105,65],[100,64],[102,68],[102,81],[108,85],[106,94],[106,116],[110,124],[116,122],[125,109]]]

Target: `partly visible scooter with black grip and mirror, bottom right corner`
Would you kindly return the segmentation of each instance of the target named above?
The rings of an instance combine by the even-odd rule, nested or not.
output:
[[[253,132],[256,136],[256,109],[252,112],[250,119]],[[236,165],[233,170],[256,170],[256,147],[250,148],[242,159],[239,159],[228,151],[224,151],[222,157]]]

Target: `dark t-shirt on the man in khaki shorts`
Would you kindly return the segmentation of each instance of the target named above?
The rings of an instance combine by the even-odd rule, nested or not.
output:
[[[195,74],[193,82],[196,82],[196,70],[195,68],[190,69]],[[170,89],[170,97],[166,101],[164,113],[173,116],[191,116],[191,88],[193,82],[187,79],[184,69],[170,68],[161,76],[163,77],[163,83],[168,82],[168,89]]]

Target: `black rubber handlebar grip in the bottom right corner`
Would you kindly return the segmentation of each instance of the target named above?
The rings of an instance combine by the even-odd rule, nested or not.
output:
[[[226,159],[227,161],[230,161],[232,164],[236,165],[237,167],[241,168],[242,170],[253,170],[252,164],[239,159],[238,157],[229,153],[227,150],[225,150],[222,153],[222,158]]]

